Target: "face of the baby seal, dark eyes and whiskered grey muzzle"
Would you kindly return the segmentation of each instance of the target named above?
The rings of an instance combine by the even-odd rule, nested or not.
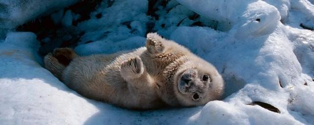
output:
[[[176,96],[182,106],[206,104],[220,98],[223,79],[210,66],[196,66],[181,71],[177,77]]]

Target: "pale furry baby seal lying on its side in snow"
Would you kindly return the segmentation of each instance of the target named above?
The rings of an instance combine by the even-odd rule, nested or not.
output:
[[[44,63],[82,96],[131,109],[203,105],[224,89],[213,65],[156,33],[147,34],[146,47],[110,55],[57,48]]]

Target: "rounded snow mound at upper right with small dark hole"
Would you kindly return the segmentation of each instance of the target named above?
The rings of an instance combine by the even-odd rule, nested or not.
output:
[[[235,29],[238,38],[270,33],[280,20],[277,9],[262,0],[177,1],[200,15],[218,21],[223,29]]]

